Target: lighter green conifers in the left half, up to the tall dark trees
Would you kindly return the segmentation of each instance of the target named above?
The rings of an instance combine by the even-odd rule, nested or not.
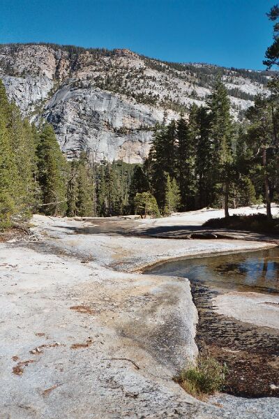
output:
[[[0,80],[0,228],[50,216],[114,216],[130,212],[135,165],[66,161],[53,127],[22,119]]]

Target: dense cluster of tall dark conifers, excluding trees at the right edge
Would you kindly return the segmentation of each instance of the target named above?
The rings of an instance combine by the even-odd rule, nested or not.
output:
[[[165,173],[175,179],[181,210],[224,205],[228,214],[229,189],[234,177],[234,126],[224,84],[217,80],[208,109],[190,108],[188,121],[157,128],[149,153],[151,191],[161,212],[169,212]]]

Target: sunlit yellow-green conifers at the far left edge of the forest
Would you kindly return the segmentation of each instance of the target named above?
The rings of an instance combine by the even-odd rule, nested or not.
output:
[[[38,199],[36,144],[27,120],[8,102],[0,80],[0,228],[25,221]]]

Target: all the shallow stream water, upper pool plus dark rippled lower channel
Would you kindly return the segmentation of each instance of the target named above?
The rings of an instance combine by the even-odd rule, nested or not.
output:
[[[246,397],[279,396],[279,331],[220,315],[212,302],[229,291],[279,294],[278,247],[172,260],[148,272],[190,280],[199,312],[197,346],[227,364],[225,391]]]

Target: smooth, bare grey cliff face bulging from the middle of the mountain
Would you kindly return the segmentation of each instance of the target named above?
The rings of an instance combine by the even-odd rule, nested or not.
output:
[[[47,103],[43,116],[55,126],[61,149],[68,154],[89,147],[96,161],[140,163],[149,151],[150,128],[163,114],[98,88],[65,85]]]

